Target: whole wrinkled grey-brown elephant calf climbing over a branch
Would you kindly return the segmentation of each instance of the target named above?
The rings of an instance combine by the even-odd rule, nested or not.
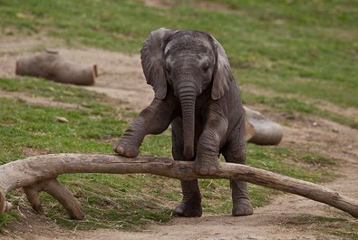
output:
[[[209,34],[160,28],[141,49],[147,82],[155,91],[113,149],[136,157],[147,134],[160,134],[171,124],[175,160],[195,160],[202,175],[218,170],[219,154],[227,162],[246,164],[244,110],[227,55]],[[253,213],[247,183],[230,181],[233,216]],[[201,216],[198,179],[181,181],[179,216]]]

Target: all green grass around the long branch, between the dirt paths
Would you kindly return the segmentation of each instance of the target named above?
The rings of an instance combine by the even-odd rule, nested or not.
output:
[[[118,110],[108,105],[111,102],[102,94],[48,82],[41,79],[0,79],[3,91],[19,91],[32,96],[61,98],[63,91],[73,96],[71,101],[83,106],[79,110],[66,110],[24,101],[0,98],[0,163],[5,164],[30,155],[60,152],[112,153],[111,145],[128,127],[128,122],[118,116],[131,112]],[[51,94],[49,94],[51,92]],[[61,116],[69,120],[62,123],[55,119]],[[171,156],[169,131],[159,136],[148,136],[144,140],[141,154]],[[248,164],[294,178],[309,181],[326,181],[336,176],[330,168],[334,160],[297,149],[260,147],[249,144]],[[330,177],[331,176],[331,177]],[[334,176],[334,177],[332,177]],[[52,197],[42,195],[46,216],[69,228],[111,227],[138,229],[153,222],[167,222],[172,209],[180,201],[179,181],[150,175],[74,174],[60,177],[77,197],[86,213],[84,221],[67,219],[61,205]],[[231,199],[227,180],[200,181],[203,209],[206,213],[230,214]],[[249,186],[254,206],[266,205],[276,191],[265,187]],[[10,200],[16,194],[10,194]],[[15,204],[16,204],[16,200]],[[4,227],[15,221],[10,212],[2,216]]]

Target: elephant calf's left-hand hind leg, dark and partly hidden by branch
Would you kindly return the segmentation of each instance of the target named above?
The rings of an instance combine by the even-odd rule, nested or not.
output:
[[[177,118],[171,123],[173,149],[172,154],[174,160],[185,160],[183,155],[184,140],[182,120]],[[201,216],[201,194],[198,188],[198,179],[189,181],[180,181],[183,199],[175,208],[178,216]]]

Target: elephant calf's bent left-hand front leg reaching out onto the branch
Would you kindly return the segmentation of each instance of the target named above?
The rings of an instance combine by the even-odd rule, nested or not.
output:
[[[140,151],[140,144],[148,134],[160,134],[167,130],[173,119],[176,102],[173,98],[165,100],[154,99],[150,106],[140,112],[131,122],[131,126],[124,132],[113,149],[124,157],[135,158]]]

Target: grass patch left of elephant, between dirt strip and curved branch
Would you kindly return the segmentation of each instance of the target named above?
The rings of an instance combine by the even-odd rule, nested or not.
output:
[[[96,107],[63,110],[5,99],[0,99],[0,105],[3,146],[0,163],[3,164],[23,158],[25,148],[49,152],[111,152],[111,146],[101,139],[113,139],[127,126],[124,121],[116,120]],[[99,112],[102,115],[91,120],[91,116],[97,116]],[[66,118],[69,123],[59,122],[56,116]],[[111,125],[112,129],[103,128],[104,125]]]

